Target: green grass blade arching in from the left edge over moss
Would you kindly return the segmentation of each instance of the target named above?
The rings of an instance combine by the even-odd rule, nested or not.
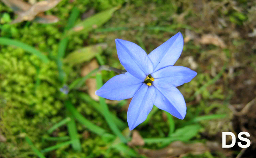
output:
[[[42,52],[36,50],[35,48],[27,45],[26,43],[22,43],[22,42],[19,42],[17,40],[8,39],[8,38],[5,38],[5,37],[0,37],[0,44],[20,47],[23,50],[38,56],[38,58],[40,58],[42,60],[42,62],[45,62],[45,63],[49,62],[49,59],[47,58],[47,56],[45,56],[44,54],[42,54]]]

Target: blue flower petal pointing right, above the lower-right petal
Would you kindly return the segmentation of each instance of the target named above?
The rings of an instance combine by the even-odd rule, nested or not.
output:
[[[190,82],[196,74],[195,71],[187,67],[167,66],[154,72],[151,76],[155,79],[155,86],[166,87],[166,85],[171,84],[177,87]]]

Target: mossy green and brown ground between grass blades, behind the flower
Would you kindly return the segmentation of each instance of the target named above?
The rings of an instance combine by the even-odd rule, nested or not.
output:
[[[6,139],[0,142],[0,158],[38,157],[26,141],[27,137],[39,151],[61,144],[62,141],[47,141],[44,138],[69,136],[65,125],[52,134],[47,133],[52,126],[67,118],[64,105],[67,97],[86,119],[113,134],[104,116],[90,102],[80,97],[81,93],[88,94],[87,86],[71,90],[68,95],[60,91],[63,83],[69,85],[80,78],[83,67],[89,62],[75,66],[64,62],[62,68],[65,79],[60,82],[56,58],[72,8],[79,10],[76,20],[79,23],[91,9],[97,14],[118,5],[121,6],[120,9],[105,24],[90,32],[70,35],[65,56],[86,46],[106,43],[107,47],[97,61],[99,64],[103,62],[123,69],[116,53],[116,38],[137,43],[149,53],[180,31],[185,43],[181,58],[175,65],[189,67],[198,75],[191,82],[178,87],[187,103],[187,115],[184,120],[173,118],[175,129],[189,126],[194,121],[202,128],[185,142],[216,141],[219,146],[222,131],[241,131],[240,124],[236,124],[239,118],[234,120],[232,110],[241,110],[256,96],[255,1],[63,0],[57,7],[46,12],[59,17],[59,22],[55,24],[25,21],[12,25],[9,23],[16,16],[0,2],[0,36],[33,46],[50,59],[45,64],[22,48],[0,45],[0,135]],[[103,82],[114,75],[117,74],[102,71]],[[129,100],[108,103],[110,112],[127,125]],[[195,121],[195,118],[202,118],[200,116],[210,118]],[[250,121],[255,121],[255,116],[252,115]],[[143,138],[164,138],[169,133],[169,125],[166,114],[162,110],[154,110],[148,122],[138,126],[136,130]],[[250,128],[252,127],[245,126],[256,137]],[[81,151],[66,145],[45,153],[45,157],[132,157],[121,147],[111,147],[113,142],[106,141],[77,121],[76,129]],[[136,153],[137,156],[134,157],[142,157],[139,149],[155,150],[165,146],[160,141],[129,149]],[[235,157],[240,150],[241,148],[234,147],[226,151],[206,151],[199,155],[186,154],[185,157]],[[251,156],[252,151],[253,148],[249,148],[245,157]],[[146,156],[144,154],[143,157]]]

